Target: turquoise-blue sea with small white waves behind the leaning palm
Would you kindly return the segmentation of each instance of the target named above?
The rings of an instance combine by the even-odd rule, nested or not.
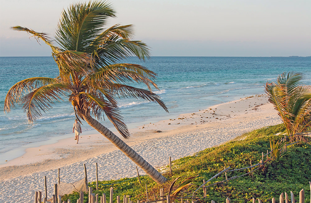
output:
[[[130,128],[240,97],[264,94],[266,82],[275,81],[284,71],[303,73],[302,83],[311,85],[310,57],[152,57],[146,62],[134,58],[126,62],[144,65],[158,74],[159,90],[153,91],[169,109],[168,114],[152,102],[121,98],[119,107]],[[50,112],[33,124],[28,123],[26,113],[19,105],[9,114],[3,113],[4,99],[12,85],[30,77],[58,75],[53,58],[0,57],[0,64],[0,164],[22,156],[28,147],[72,136],[68,133],[72,133],[75,116],[67,99],[56,102]],[[141,84],[133,86],[146,88]],[[115,131],[109,122],[103,120],[102,123]],[[86,123],[82,128],[83,131],[91,130]]]

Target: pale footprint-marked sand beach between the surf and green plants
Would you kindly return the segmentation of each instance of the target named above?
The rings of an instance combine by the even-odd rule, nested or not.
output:
[[[125,142],[159,168],[168,163],[169,156],[175,160],[192,155],[253,129],[279,123],[281,120],[267,98],[256,96],[145,124],[131,129],[132,136]],[[156,130],[162,132],[154,133]],[[60,168],[61,181],[71,183],[84,177],[83,163],[89,182],[96,179],[96,162],[99,180],[136,176],[136,165],[102,135],[82,132],[79,144],[73,137],[27,149],[22,157],[0,165],[0,202],[33,202],[35,191],[44,191],[44,176],[51,197],[57,169]],[[139,171],[144,174],[142,169]]]

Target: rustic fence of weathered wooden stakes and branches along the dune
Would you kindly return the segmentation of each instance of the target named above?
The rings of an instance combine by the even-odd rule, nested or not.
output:
[[[299,137],[297,137],[299,135]],[[304,133],[298,133],[298,134],[295,134],[295,135],[291,135],[291,136],[285,136],[284,138],[281,139],[281,143],[284,143],[283,147],[281,149],[278,149],[280,150],[280,152],[285,152],[287,147],[290,146],[290,145],[293,145],[293,144],[296,144],[298,142],[301,142],[301,141],[306,141],[306,138],[309,138],[311,135],[311,131],[308,131],[308,132],[304,132]],[[295,139],[293,139],[293,137],[296,138],[296,142],[291,142],[291,141],[295,141]],[[290,143],[291,142],[291,143]],[[310,142],[310,139],[307,141],[307,142]],[[288,144],[286,144],[288,143]],[[205,181],[203,180],[203,184],[198,187],[194,192],[193,192],[193,195],[192,196],[187,196],[187,197],[183,197],[183,198],[180,198],[181,202],[183,203],[183,199],[190,199],[191,200],[191,203],[196,203],[198,200],[201,200],[201,198],[206,198],[206,195],[207,195],[207,187],[210,187],[212,185],[216,185],[216,184],[219,184],[219,183],[225,183],[225,182],[228,182],[230,180],[233,180],[233,179],[236,179],[236,178],[239,178],[239,177],[242,177],[242,176],[245,176],[245,175],[248,175],[248,174],[252,174],[252,177],[253,177],[253,172],[258,170],[258,169],[261,169],[264,164],[266,162],[268,162],[269,160],[273,159],[273,156],[272,156],[272,152],[273,152],[274,149],[272,149],[270,152],[267,150],[267,154],[263,154],[262,152],[262,159],[255,165],[252,165],[252,162],[250,162],[250,166],[248,167],[244,167],[244,168],[240,168],[240,169],[232,169],[232,170],[229,170],[230,167],[228,168],[225,168],[224,170],[222,170],[221,172],[219,172],[218,174],[214,175],[212,178],[210,178],[209,180]],[[269,155],[270,154],[270,158],[269,158]],[[264,157],[266,157],[266,160],[264,160]],[[103,184],[98,184],[98,167],[97,167],[97,163],[95,163],[95,166],[96,166],[96,190],[98,190],[98,186],[99,185],[103,185]],[[255,168],[257,167],[257,168]],[[254,169],[255,168],[255,169]],[[235,175],[231,178],[228,178],[228,173],[229,172],[234,172],[234,171],[239,171],[239,170],[244,170],[244,169],[250,169],[251,171],[250,172],[247,172],[245,174],[242,174],[242,175]],[[137,170],[137,177],[138,177],[138,180],[139,180],[139,183],[141,183],[140,181],[140,175],[139,175],[139,172],[138,172],[138,169],[136,167],[136,170]],[[44,177],[44,187],[45,187],[45,197],[43,198],[43,202],[44,203],[61,203],[61,196],[60,196],[60,193],[59,193],[59,188],[58,188],[58,185],[60,183],[60,170],[58,169],[58,184],[54,184],[54,194],[53,194],[53,198],[51,198],[51,201],[47,201],[47,190],[46,190],[46,177]],[[86,173],[86,165],[84,164],[84,172],[85,172],[85,182],[87,183],[87,173]],[[169,157],[169,174],[172,174],[172,165],[171,165],[171,157]],[[220,176],[221,174],[225,174],[225,180],[223,181],[219,181],[219,182],[216,182],[216,183],[212,183],[212,184],[209,184],[207,185],[207,183],[211,182],[212,179],[214,178],[217,178],[218,176]],[[135,178],[137,178],[135,177]],[[133,178],[131,178],[133,179]],[[131,179],[128,179],[128,180],[125,180],[125,181],[129,181]],[[124,182],[124,181],[122,181]],[[121,183],[121,182],[120,182]],[[117,183],[114,183],[114,184],[117,184]],[[309,182],[310,184],[310,203],[311,203],[311,182]],[[104,185],[112,185],[112,184],[104,184]],[[207,185],[207,186],[206,186]],[[199,198],[198,196],[195,196],[195,193],[200,189],[202,188],[203,189],[203,197]],[[78,191],[78,190],[77,190]],[[80,192],[80,198],[78,199],[77,203],[83,203],[83,201],[80,201],[80,200],[83,200],[83,191],[78,191]],[[112,195],[113,195],[113,187],[110,187],[110,201],[109,203],[113,203],[112,202]],[[166,201],[167,203],[170,203],[170,198],[169,196],[164,196],[164,189],[160,189],[160,200],[156,200],[156,197],[154,196],[154,201],[149,201],[148,199],[148,193],[147,193],[147,185],[146,185],[146,196],[147,196],[147,201],[137,201],[137,203],[141,203],[141,202],[144,202],[144,203],[153,203],[153,202],[159,202],[159,203],[165,203],[164,201]],[[94,202],[98,202],[98,194],[94,194],[92,193],[92,187],[89,187],[89,203],[94,203]],[[42,193],[40,191],[37,191],[35,192],[35,203],[41,203],[42,201]],[[301,200],[301,201],[300,201]],[[70,200],[68,200],[70,202]],[[106,203],[106,196],[105,194],[103,194],[103,196],[100,196],[100,202],[101,203]],[[211,201],[211,202],[214,202],[214,201]],[[228,202],[231,202],[229,198],[227,198],[226,200],[226,203]],[[253,198],[253,203],[255,202],[255,199]],[[261,203],[262,200],[258,199],[258,203]],[[275,198],[272,198],[272,203],[276,202],[275,201]],[[283,203],[284,202],[284,194],[282,193],[280,195],[280,203]],[[304,190],[302,189],[299,193],[299,203],[301,202],[304,202]],[[120,202],[120,197],[117,196],[117,202],[116,203],[121,203]],[[123,203],[133,203],[129,197],[127,196],[124,196],[123,197]],[[188,200],[185,200],[184,203],[189,203]],[[288,195],[287,193],[285,192],[285,203],[289,203],[289,198],[288,198]],[[291,192],[291,203],[295,203],[295,198],[294,198],[294,194]]]

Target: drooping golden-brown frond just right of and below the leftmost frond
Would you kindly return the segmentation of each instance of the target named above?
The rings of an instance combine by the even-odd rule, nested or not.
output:
[[[24,103],[24,111],[27,113],[27,118],[30,122],[42,116],[41,111],[44,113],[52,108],[51,104],[54,101],[63,100],[61,96],[66,96],[65,93],[69,92],[66,84],[52,83],[39,87],[32,92],[26,94],[22,98]]]

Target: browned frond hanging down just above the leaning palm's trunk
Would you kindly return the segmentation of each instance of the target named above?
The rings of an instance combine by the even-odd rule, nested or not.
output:
[[[107,118],[112,124],[114,124],[114,127],[123,136],[123,138],[128,139],[130,137],[128,128],[123,122],[123,117],[120,115],[120,111],[117,106],[110,104],[98,94],[88,94],[86,92],[80,93],[83,97],[84,105],[82,111],[88,112],[89,109],[91,109],[91,113],[98,119],[103,116],[103,113],[106,114]]]

